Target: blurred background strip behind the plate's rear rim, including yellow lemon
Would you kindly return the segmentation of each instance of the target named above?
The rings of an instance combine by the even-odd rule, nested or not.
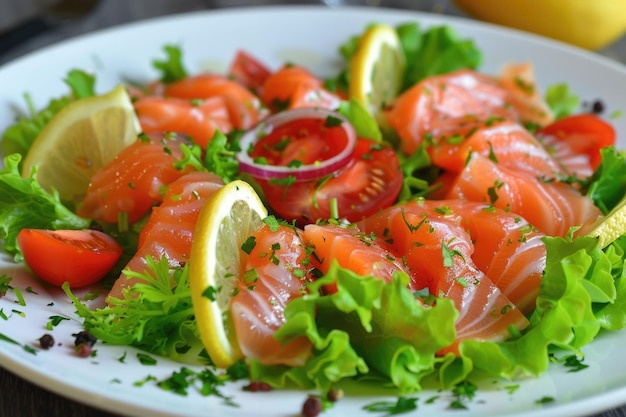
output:
[[[284,4],[367,5],[476,17],[626,63],[626,0],[0,0],[0,64],[122,23],[213,8]]]

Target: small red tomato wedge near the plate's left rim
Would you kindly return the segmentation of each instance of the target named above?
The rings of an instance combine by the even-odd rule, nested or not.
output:
[[[113,268],[122,248],[96,230],[22,229],[17,236],[24,261],[42,280],[72,288],[91,285]]]

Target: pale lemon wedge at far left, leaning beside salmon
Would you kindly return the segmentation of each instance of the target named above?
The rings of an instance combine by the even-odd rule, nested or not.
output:
[[[37,166],[41,186],[61,199],[79,201],[91,177],[137,140],[139,121],[123,86],[76,100],[44,127],[26,154],[22,176]]]

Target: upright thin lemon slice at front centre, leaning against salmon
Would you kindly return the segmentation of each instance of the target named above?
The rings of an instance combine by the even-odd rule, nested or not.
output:
[[[267,216],[254,189],[229,182],[200,210],[189,261],[189,285],[200,339],[222,368],[243,357],[230,315],[230,299],[244,273],[241,245]]]

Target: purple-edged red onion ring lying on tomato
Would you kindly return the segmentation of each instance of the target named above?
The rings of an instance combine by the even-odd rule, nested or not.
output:
[[[298,119],[326,119],[327,117],[335,117],[342,121],[340,127],[345,131],[347,141],[344,149],[331,158],[316,162],[309,165],[301,165],[299,167],[287,167],[282,165],[263,165],[257,164],[248,155],[248,149],[259,139],[272,132],[274,127],[281,126]],[[313,180],[336,172],[344,167],[350,160],[350,155],[356,146],[356,132],[352,124],[339,113],[314,108],[302,108],[287,110],[277,113],[264,119],[254,129],[246,132],[239,140],[241,151],[237,154],[239,160],[239,168],[242,172],[246,172],[258,179],[281,179],[294,177],[297,180]]]

